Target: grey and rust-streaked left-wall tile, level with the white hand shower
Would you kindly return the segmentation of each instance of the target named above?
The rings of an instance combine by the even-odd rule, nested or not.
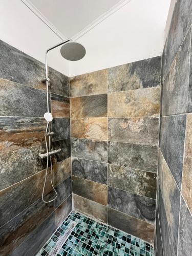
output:
[[[44,143],[46,124],[38,117],[0,117],[0,153]]]

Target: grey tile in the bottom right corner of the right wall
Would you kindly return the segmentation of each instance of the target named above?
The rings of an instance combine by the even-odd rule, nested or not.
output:
[[[178,256],[190,255],[192,251],[192,216],[181,197]]]

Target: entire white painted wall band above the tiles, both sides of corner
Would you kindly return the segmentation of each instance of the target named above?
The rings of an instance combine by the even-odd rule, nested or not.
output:
[[[49,66],[68,76],[162,54],[170,0],[132,0],[78,39],[87,50],[77,62],[49,53]],[[45,50],[61,39],[22,1],[0,0],[0,39],[44,62]]]

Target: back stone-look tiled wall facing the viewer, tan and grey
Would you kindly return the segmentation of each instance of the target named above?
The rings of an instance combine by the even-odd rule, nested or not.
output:
[[[70,79],[76,210],[154,242],[161,57]]]

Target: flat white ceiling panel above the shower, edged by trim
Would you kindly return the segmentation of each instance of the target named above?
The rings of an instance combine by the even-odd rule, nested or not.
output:
[[[122,0],[28,0],[65,38],[77,33]]]

